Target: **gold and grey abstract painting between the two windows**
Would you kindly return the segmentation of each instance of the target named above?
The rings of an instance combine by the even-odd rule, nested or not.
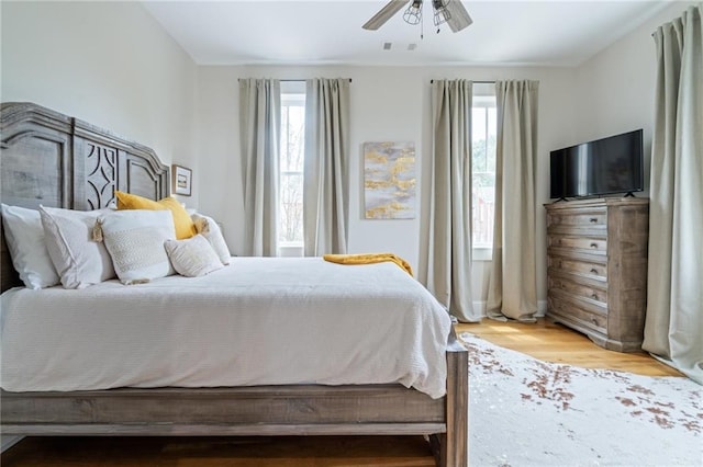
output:
[[[415,144],[364,144],[364,201],[367,219],[415,217]]]

